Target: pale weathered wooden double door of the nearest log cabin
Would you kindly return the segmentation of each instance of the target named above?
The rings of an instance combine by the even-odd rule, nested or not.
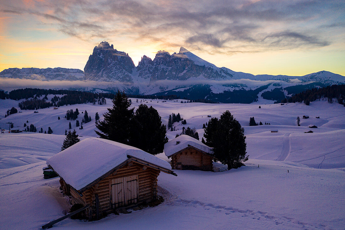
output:
[[[111,195],[114,208],[138,202],[138,175],[111,180]]]

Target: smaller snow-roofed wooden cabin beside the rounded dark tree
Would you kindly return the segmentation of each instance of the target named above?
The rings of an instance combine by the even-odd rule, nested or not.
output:
[[[213,170],[213,149],[188,135],[180,135],[164,145],[172,169]]]

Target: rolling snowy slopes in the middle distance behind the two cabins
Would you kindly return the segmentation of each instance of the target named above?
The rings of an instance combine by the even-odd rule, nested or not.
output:
[[[204,103],[180,103],[181,100],[162,102],[161,100],[145,100],[138,99],[138,103],[135,98],[131,98],[132,107],[138,107],[140,101],[148,106],[153,106],[157,109],[162,122],[167,125],[169,114],[180,113],[180,115],[186,119],[187,124],[182,125],[181,122],[174,124],[176,131],[168,131],[167,136],[169,140],[175,138],[177,133],[181,133],[183,126],[186,128],[195,127],[199,133],[199,137],[203,136],[204,130],[203,124],[208,122],[211,115],[213,117],[219,117],[227,109],[234,115],[234,117],[245,128],[245,135],[247,136],[247,152],[250,159],[263,159],[263,160],[280,160],[280,161],[293,161],[299,162],[310,167],[315,168],[334,168],[345,167],[344,156],[344,144],[345,139],[345,110],[340,104],[329,104],[325,101],[312,102],[310,106],[306,106],[302,103],[289,103],[286,105],[280,104],[204,104]],[[157,103],[158,102],[158,103]],[[48,131],[48,127],[51,127],[53,134],[63,135],[65,130],[69,130],[69,122],[71,122],[72,130],[76,129],[77,133],[84,138],[85,136],[97,136],[94,130],[95,126],[95,114],[98,112],[100,119],[103,119],[102,114],[107,112],[107,108],[111,107],[111,103],[106,105],[92,105],[79,104],[61,106],[58,109],[45,108],[38,109],[38,113],[33,111],[21,111],[22,113],[12,114],[4,118],[4,113],[11,106],[15,106],[13,100],[0,100],[0,127],[8,130],[8,124],[6,122],[13,122],[14,127],[24,129],[23,125],[28,120],[27,125],[33,124],[37,128],[37,132],[41,129]],[[259,108],[261,106],[261,108]],[[17,107],[18,108],[18,107]],[[79,130],[76,127],[76,121],[67,120],[65,117],[66,111],[69,109],[75,110],[78,108],[80,114],[77,118],[81,122],[83,111],[87,110],[91,116],[92,121],[83,124],[83,129]],[[18,108],[20,111],[20,109]],[[296,117],[302,117],[303,115],[309,115],[309,119],[301,119],[300,125],[296,125]],[[60,120],[58,120],[60,116]],[[249,118],[255,117],[255,121],[260,121],[265,124],[271,125],[259,125],[248,126]],[[315,118],[319,116],[320,118]],[[307,127],[310,124],[315,124],[318,128],[312,129],[314,133],[304,133],[310,129]],[[278,133],[270,133],[271,129],[277,129]],[[9,140],[11,136],[16,139]],[[2,134],[0,135],[0,148],[3,146],[0,161],[1,168],[19,166],[27,164],[26,162],[37,162],[37,154],[20,154],[16,148],[15,154],[12,149],[8,147],[12,143],[15,144],[20,140],[20,134]],[[27,133],[26,135],[29,135]],[[51,136],[49,134],[31,133],[33,136]],[[2,139],[1,139],[2,138]],[[50,138],[50,137],[49,137]],[[52,137],[53,138],[53,137]],[[60,143],[56,144],[56,148],[47,146],[47,153],[41,154],[42,159],[46,160],[53,153],[60,151],[64,136],[61,138],[55,138],[55,141]],[[30,140],[30,139],[28,139]],[[36,140],[36,139],[34,139]],[[43,140],[42,140],[43,141]],[[317,143],[317,144],[316,144]],[[1,145],[2,144],[2,145]],[[34,148],[32,148],[34,150]],[[30,152],[31,150],[28,150]],[[35,150],[36,152],[36,150]],[[26,157],[27,159],[23,159]],[[163,159],[167,159],[163,154]],[[29,160],[31,159],[31,160]],[[24,160],[24,161],[22,161]]]

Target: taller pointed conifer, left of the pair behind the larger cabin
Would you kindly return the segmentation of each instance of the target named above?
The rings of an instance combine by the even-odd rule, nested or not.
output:
[[[128,109],[131,105],[125,92],[118,92],[112,100],[113,107],[108,108],[104,120],[98,121],[95,132],[101,138],[128,144],[130,137],[131,119],[134,115],[134,108]]]

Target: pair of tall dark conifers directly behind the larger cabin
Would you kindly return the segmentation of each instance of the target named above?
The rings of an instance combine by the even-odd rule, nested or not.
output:
[[[95,132],[108,140],[128,144],[152,155],[163,152],[168,142],[166,126],[152,106],[140,104],[137,110],[130,108],[131,102],[124,92],[118,91],[112,100],[113,107],[97,121]]]

